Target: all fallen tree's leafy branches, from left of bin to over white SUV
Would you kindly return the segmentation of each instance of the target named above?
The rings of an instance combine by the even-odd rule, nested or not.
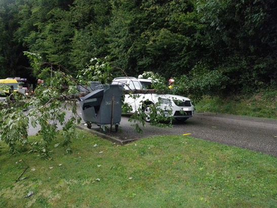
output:
[[[17,92],[11,93],[14,103],[24,100],[24,105],[16,106],[13,104],[0,111],[1,139],[10,147],[12,153],[18,152],[18,145],[23,145],[30,148],[29,152],[36,152],[44,158],[51,159],[50,144],[55,141],[59,133],[58,125],[61,125],[61,133],[64,138],[63,145],[66,153],[70,153],[71,139],[76,136],[75,126],[81,122],[76,110],[77,98],[80,96],[76,85],[81,83],[86,87],[89,81],[111,83],[113,67],[106,60],[92,58],[90,64],[78,73],[77,79],[74,79],[71,75],[60,71],[60,66],[54,67],[55,64],[51,64],[51,70],[49,67],[44,68],[46,64],[42,62],[42,58],[38,54],[29,52],[25,52],[25,54],[31,60],[34,72],[48,77],[48,79],[46,79],[45,85],[37,86],[34,95],[27,98]],[[161,82],[156,83],[156,86],[159,86],[158,83],[161,85]],[[125,90],[124,93],[134,99],[142,94],[156,92],[156,89],[132,90],[129,86],[127,88],[128,90]],[[151,113],[145,112],[146,106],[151,107]],[[168,120],[170,116],[165,118],[164,110],[160,106],[160,102],[153,103],[150,100],[149,103],[141,103],[129,121],[134,123],[137,131],[141,131],[139,125],[145,125],[147,116],[151,118],[152,125],[161,125],[161,121]],[[130,112],[131,108],[128,103],[123,104],[123,112]],[[23,111],[26,109],[28,112]],[[68,110],[72,112],[70,115],[68,115]],[[170,115],[170,109],[168,109],[168,115]],[[172,118],[169,120],[172,121]],[[33,127],[37,125],[41,127],[37,133],[41,137],[40,141],[31,142],[28,140],[29,123]]]

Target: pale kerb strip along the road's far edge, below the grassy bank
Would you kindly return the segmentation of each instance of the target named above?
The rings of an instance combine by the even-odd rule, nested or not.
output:
[[[263,123],[263,122],[255,122],[255,121],[246,121],[246,120],[239,120],[239,119],[230,119],[230,118],[221,118],[217,116],[207,116],[207,115],[195,115],[195,117],[199,117],[201,119],[206,119],[210,121],[220,121],[222,123],[227,124],[236,124],[236,125],[245,125],[257,128],[265,128],[270,130],[277,130],[276,124],[271,123]]]

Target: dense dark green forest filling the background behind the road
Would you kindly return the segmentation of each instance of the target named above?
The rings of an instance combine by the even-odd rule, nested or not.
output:
[[[0,0],[0,78],[35,79],[23,51],[76,75],[108,57],[217,93],[276,86],[276,0]],[[122,69],[122,70],[121,70]]]

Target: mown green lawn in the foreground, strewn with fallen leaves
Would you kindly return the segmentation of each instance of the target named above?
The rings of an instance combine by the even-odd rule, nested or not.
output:
[[[63,147],[54,148],[48,161],[27,152],[10,155],[0,142],[0,207],[277,204],[273,156],[188,136],[157,136],[116,146],[82,131],[72,150],[65,155]],[[24,167],[20,160],[30,167],[23,175],[28,178],[15,183]],[[24,198],[29,191],[34,195]]]

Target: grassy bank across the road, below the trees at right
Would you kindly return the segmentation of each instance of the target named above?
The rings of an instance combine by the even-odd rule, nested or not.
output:
[[[196,103],[197,112],[214,112],[277,119],[277,91],[262,90],[252,96],[204,96]]]

